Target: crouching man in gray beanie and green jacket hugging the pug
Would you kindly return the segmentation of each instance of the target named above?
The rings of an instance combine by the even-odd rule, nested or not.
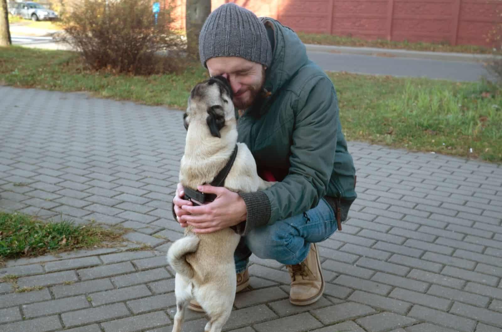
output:
[[[356,198],[333,84],[291,29],[232,3],[207,18],[199,52],[209,74],[224,76],[232,87],[238,140],[252,151],[259,174],[279,182],[256,193],[200,186],[217,195],[202,206],[183,200],[178,185],[176,218],[195,232],[233,227],[243,236],[234,255],[237,291],[249,284],[254,253],[287,265],[291,303],[313,303],[324,290],[315,243],[335,232]]]

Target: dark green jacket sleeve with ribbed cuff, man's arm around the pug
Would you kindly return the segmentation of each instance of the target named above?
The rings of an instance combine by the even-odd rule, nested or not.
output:
[[[332,82],[325,76],[311,79],[292,107],[295,125],[288,175],[264,191],[239,194],[247,209],[245,227],[240,227],[243,235],[310,210],[326,194],[339,122]]]

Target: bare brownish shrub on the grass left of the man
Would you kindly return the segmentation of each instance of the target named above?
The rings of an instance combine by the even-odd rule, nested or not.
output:
[[[161,8],[157,23],[150,0],[82,0],[63,19],[60,40],[78,50],[92,69],[135,75],[171,71],[181,36],[171,27],[173,7]]]

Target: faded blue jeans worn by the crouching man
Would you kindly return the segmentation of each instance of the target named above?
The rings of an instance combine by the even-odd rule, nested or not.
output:
[[[233,256],[235,270],[246,269],[251,253],[282,264],[300,264],[307,258],[310,243],[326,240],[336,229],[333,209],[321,199],[317,207],[303,214],[258,227],[242,237]]]

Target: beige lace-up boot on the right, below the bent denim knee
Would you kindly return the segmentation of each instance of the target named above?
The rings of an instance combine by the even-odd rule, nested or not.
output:
[[[307,305],[317,301],[324,292],[324,277],[319,252],[315,243],[310,244],[307,258],[300,264],[288,265],[291,276],[289,301],[295,305]]]

